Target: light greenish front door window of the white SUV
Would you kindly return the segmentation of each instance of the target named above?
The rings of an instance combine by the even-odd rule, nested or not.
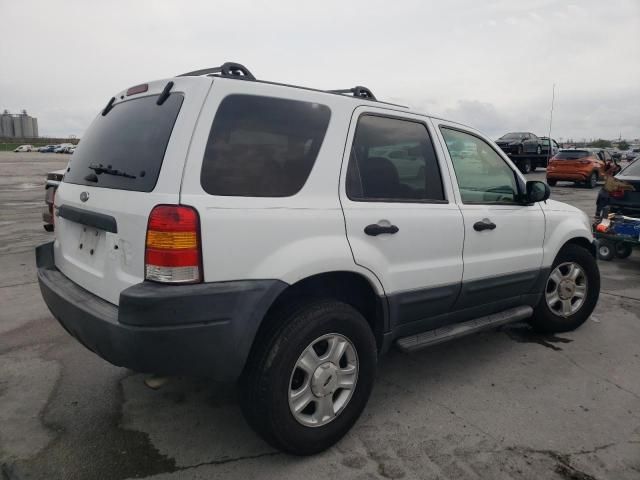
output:
[[[491,146],[469,133],[441,127],[464,203],[515,203],[515,172]]]

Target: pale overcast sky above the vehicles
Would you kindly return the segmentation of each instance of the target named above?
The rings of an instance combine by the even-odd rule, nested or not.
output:
[[[224,61],[366,85],[492,137],[640,137],[640,0],[0,0],[0,109],[81,135],[117,91]]]

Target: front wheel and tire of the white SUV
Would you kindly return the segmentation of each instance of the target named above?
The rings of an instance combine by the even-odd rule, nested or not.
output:
[[[571,272],[576,271],[571,269],[572,265],[574,268],[577,267],[579,275],[576,276],[574,283],[575,291],[571,291],[570,288],[567,291],[562,288],[562,282],[556,281],[554,278],[564,279],[564,281],[569,279]],[[581,299],[577,297],[579,288],[583,293]],[[557,301],[552,300],[554,293]],[[565,295],[567,298],[563,294],[568,294]],[[551,266],[544,293],[534,308],[529,323],[535,330],[543,333],[575,330],[589,318],[596,307],[599,295],[600,272],[596,259],[583,247],[572,244],[565,245]],[[570,308],[565,310],[567,302]]]

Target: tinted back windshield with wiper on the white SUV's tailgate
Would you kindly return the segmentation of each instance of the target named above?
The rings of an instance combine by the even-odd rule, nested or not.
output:
[[[64,181],[93,187],[150,192],[184,97],[172,93],[119,103],[98,117],[73,153]]]

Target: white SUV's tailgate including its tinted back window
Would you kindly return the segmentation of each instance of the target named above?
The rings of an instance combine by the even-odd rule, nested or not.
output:
[[[158,105],[169,81],[170,95]],[[56,267],[89,292],[118,304],[144,280],[149,213],[179,203],[182,170],[211,78],[150,82],[116,95],[75,151],[55,197]]]

